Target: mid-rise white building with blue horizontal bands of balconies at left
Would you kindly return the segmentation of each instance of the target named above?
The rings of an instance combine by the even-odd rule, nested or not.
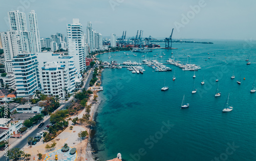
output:
[[[17,97],[33,95],[39,86],[37,58],[33,54],[23,54],[13,57],[13,74],[15,75]]]

